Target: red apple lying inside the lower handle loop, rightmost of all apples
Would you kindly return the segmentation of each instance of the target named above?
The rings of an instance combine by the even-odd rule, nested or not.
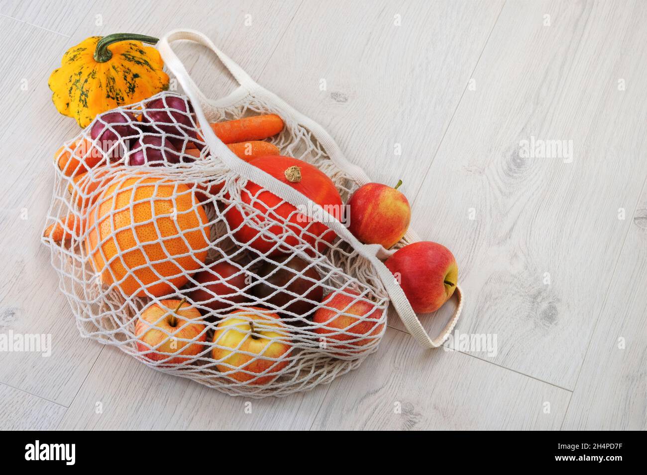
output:
[[[437,242],[421,241],[404,246],[384,264],[400,282],[417,313],[438,310],[456,288],[458,266],[454,255]]]

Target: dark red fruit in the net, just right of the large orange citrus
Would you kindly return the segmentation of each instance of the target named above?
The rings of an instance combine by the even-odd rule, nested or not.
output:
[[[209,268],[193,276],[198,282],[190,297],[197,306],[207,307],[213,311],[249,301],[241,291],[252,282],[248,281],[247,272],[223,261],[212,264]]]

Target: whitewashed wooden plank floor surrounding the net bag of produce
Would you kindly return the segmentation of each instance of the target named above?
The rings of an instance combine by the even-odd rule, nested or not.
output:
[[[459,262],[457,329],[496,335],[496,355],[422,351],[393,316],[358,370],[248,414],[80,338],[39,242],[52,154],[78,133],[47,79],[87,36],[178,27],[375,181],[404,180],[416,231]],[[210,96],[232,89],[179,52]],[[0,71],[0,332],[53,346],[0,352],[0,428],[647,428],[646,2],[1,0]],[[521,157],[531,137],[572,141],[572,162]]]

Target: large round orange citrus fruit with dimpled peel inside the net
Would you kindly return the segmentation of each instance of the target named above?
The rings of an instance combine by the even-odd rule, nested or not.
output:
[[[85,249],[103,284],[126,295],[167,295],[201,268],[209,245],[203,207],[186,185],[140,173],[113,180],[90,209]]]

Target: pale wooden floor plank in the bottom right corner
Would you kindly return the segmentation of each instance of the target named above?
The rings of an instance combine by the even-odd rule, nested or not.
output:
[[[627,220],[630,231],[575,385],[564,429],[647,429],[647,192]]]

